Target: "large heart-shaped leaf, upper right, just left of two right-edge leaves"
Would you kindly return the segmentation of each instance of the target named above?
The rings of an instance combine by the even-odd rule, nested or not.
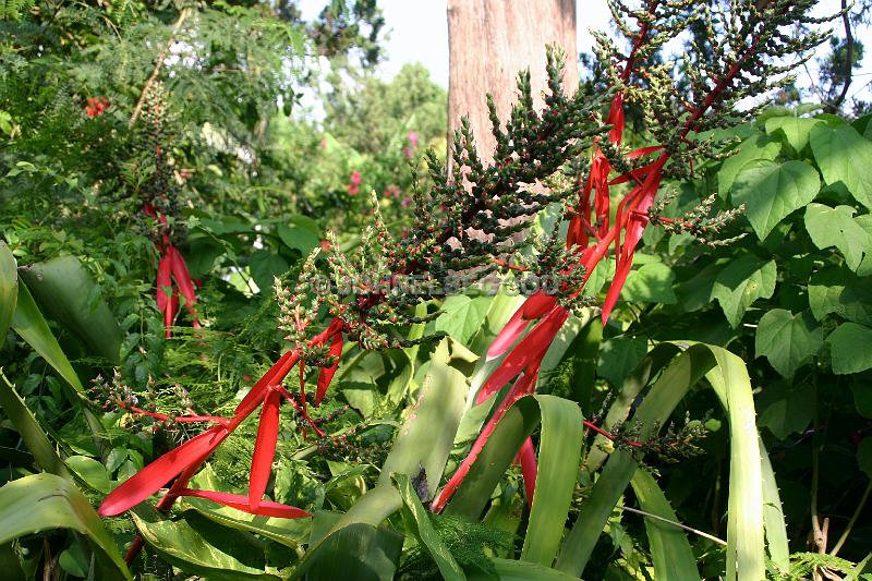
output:
[[[758,159],[736,177],[730,196],[734,205],[746,205],[748,221],[758,238],[764,240],[778,222],[814,199],[820,189],[818,172],[803,161],[776,164]]]

